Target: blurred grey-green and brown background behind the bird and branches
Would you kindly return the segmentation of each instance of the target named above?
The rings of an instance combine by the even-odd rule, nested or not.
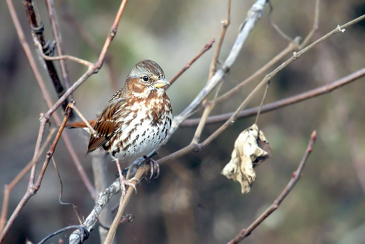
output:
[[[219,60],[227,57],[238,27],[253,3],[253,0],[232,1],[231,24]],[[14,1],[14,4],[33,48],[22,2]],[[119,4],[115,0],[55,0],[64,52],[96,62]],[[314,0],[272,0],[272,4],[271,19],[287,35],[294,38],[309,33]],[[37,10],[45,24],[45,37],[53,40],[43,1],[37,1]],[[264,16],[226,76],[222,92],[236,86],[287,47],[288,41],[268,22],[268,10],[266,6]],[[363,14],[365,2],[362,0],[321,1],[319,30],[311,42],[338,24]],[[142,59],[158,62],[166,78],[171,79],[212,38],[218,40],[225,16],[224,0],[128,2],[108,52],[108,63],[73,93],[77,107],[87,119],[95,118],[110,96],[122,87],[131,67]],[[82,32],[75,28],[75,23]],[[39,114],[47,111],[47,107],[19,44],[5,1],[0,2],[0,29],[0,186],[3,186],[32,159]],[[280,71],[272,79],[266,103],[325,85],[364,68],[364,47],[365,21],[362,21],[348,27],[344,34],[330,37]],[[179,114],[206,83],[215,48],[216,43],[168,89],[174,115]],[[72,83],[86,72],[79,64],[67,61],[67,65]],[[46,71],[40,70],[48,81]],[[234,111],[263,76],[218,105],[212,114]],[[55,102],[54,88],[50,82],[46,85]],[[144,181],[137,187],[138,194],[133,195],[127,209],[127,213],[134,216],[133,221],[118,228],[117,243],[228,242],[252,223],[286,186],[314,129],[318,138],[301,180],[279,209],[244,242],[365,243],[365,184],[361,184],[365,182],[364,90],[365,78],[362,78],[329,94],[262,114],[258,125],[271,143],[273,156],[256,168],[257,178],[248,194],[242,195],[239,184],[229,181],[220,171],[230,160],[238,134],[252,125],[255,118],[238,120],[201,152],[164,165],[157,179]],[[250,106],[259,105],[260,100],[261,95],[256,96]],[[61,108],[57,112],[62,115]],[[192,117],[200,115],[201,111]],[[219,125],[207,126],[202,139]],[[53,121],[52,126],[56,126]],[[155,158],[188,145],[194,131],[195,127],[180,128]],[[85,157],[86,134],[78,130],[66,133],[92,178],[91,159]],[[80,215],[86,217],[94,203],[62,140],[54,158],[63,181],[62,200],[75,204]],[[44,157],[40,161],[43,160]],[[117,169],[109,157],[106,160],[111,183]],[[11,192],[8,216],[26,191],[28,181],[29,174]],[[59,192],[60,184],[50,164],[40,190],[21,211],[4,243],[24,243],[27,239],[39,242],[57,229],[78,224],[72,207],[58,203]],[[111,206],[118,198],[112,199]],[[2,202],[2,187],[0,199]],[[52,241],[55,243],[62,238],[67,242],[68,235],[58,235]],[[91,232],[87,243],[99,243],[97,228]]]

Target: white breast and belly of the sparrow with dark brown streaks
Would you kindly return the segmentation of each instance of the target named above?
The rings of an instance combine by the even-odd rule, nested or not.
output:
[[[116,119],[116,130],[106,150],[114,158],[133,161],[156,150],[165,139],[171,126],[171,105],[165,93],[134,98],[125,105],[125,115]]]

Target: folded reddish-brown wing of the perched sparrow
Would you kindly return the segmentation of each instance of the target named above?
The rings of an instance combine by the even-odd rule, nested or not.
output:
[[[96,125],[94,127],[99,137],[91,136],[87,153],[90,153],[95,149],[99,148],[100,146],[102,146],[114,134],[116,129],[114,114],[116,112],[118,113],[121,112],[120,108],[125,102],[126,100],[122,97],[115,98],[115,96],[113,96],[110,99],[109,103],[105,106],[103,113],[96,121]]]

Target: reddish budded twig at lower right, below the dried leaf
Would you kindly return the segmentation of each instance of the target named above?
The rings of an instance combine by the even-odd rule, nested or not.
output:
[[[287,186],[284,188],[284,190],[280,193],[280,195],[274,200],[274,203],[268,209],[266,209],[266,211],[263,212],[249,227],[242,229],[240,231],[240,233],[227,244],[237,244],[240,241],[242,241],[246,236],[250,235],[251,232],[258,225],[260,225],[270,214],[272,214],[280,206],[281,202],[292,191],[293,187],[295,186],[295,184],[298,182],[298,180],[302,176],[301,173],[302,173],[303,167],[306,164],[308,156],[310,155],[310,153],[312,151],[312,147],[313,147],[313,143],[314,143],[315,139],[316,139],[316,131],[313,131],[312,134],[310,135],[310,140],[308,142],[307,149],[304,153],[302,160],[299,163],[298,168],[296,169],[296,171],[293,172],[291,180],[289,181]]]

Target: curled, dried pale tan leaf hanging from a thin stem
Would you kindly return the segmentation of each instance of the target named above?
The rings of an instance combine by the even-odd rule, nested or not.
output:
[[[256,124],[242,131],[235,142],[232,158],[221,174],[241,184],[241,192],[250,192],[256,179],[254,167],[271,156],[270,143]]]

